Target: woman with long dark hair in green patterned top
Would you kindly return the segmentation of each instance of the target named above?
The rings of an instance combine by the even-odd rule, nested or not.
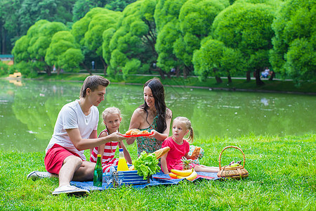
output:
[[[159,79],[150,79],[144,84],[144,104],[136,108],[129,129],[148,130],[154,134],[137,138],[138,156],[143,151],[153,153],[162,148],[162,142],[169,136],[172,112],[164,102],[164,86]],[[132,144],[135,138],[126,140]]]

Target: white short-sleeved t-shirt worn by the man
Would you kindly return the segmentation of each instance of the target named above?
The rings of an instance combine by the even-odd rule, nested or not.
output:
[[[84,151],[78,151],[74,147],[66,129],[78,128],[82,139],[88,139],[93,130],[98,129],[99,111],[92,106],[89,115],[84,115],[79,105],[79,100],[67,103],[58,114],[54,133],[46,148],[46,153],[55,143],[66,148],[68,151],[77,153],[82,160],[86,160]]]

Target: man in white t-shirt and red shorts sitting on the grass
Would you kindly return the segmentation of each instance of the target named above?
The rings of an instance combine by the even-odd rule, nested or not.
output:
[[[27,178],[59,177],[59,186],[53,195],[69,193],[80,195],[87,190],[70,186],[70,181],[93,179],[94,162],[86,161],[84,150],[110,141],[122,141],[119,132],[98,138],[99,112],[96,106],[104,101],[105,89],[110,82],[99,75],[88,76],[81,87],[79,100],[62,107],[55,123],[51,141],[44,159],[48,172],[31,172]]]

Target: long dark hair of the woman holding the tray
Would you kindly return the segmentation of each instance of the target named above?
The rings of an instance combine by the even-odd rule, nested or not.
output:
[[[166,103],[164,102],[164,86],[162,85],[162,82],[160,82],[159,79],[153,78],[148,80],[144,84],[145,87],[150,87],[152,90],[152,96],[154,96],[154,108],[157,110],[158,120],[157,120],[157,132],[162,133],[166,129]],[[144,99],[145,101],[145,99]],[[148,106],[145,102],[143,105],[140,106],[140,108],[143,108],[145,112],[147,113],[146,121],[148,124],[150,124],[147,120],[148,118]]]

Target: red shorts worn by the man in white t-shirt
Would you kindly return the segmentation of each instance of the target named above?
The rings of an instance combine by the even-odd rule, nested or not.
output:
[[[71,155],[75,155],[80,158],[77,153],[70,152],[66,148],[63,148],[62,146],[55,143],[45,155],[44,163],[47,172],[59,174],[64,160]]]

